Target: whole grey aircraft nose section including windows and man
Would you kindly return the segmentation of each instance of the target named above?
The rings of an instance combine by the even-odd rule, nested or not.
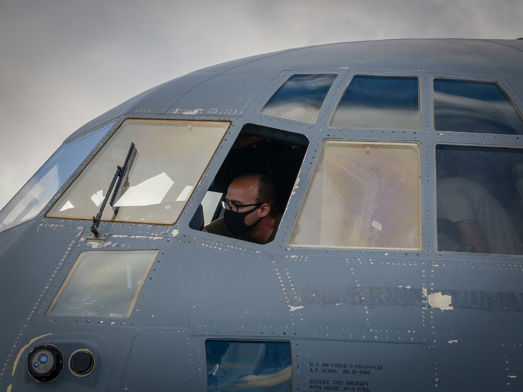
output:
[[[0,390],[523,390],[523,40],[154,87],[0,212]]]

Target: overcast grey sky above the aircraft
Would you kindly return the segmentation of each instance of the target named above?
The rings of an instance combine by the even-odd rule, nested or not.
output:
[[[0,0],[0,207],[81,125],[199,68],[306,45],[523,37],[523,1]]]

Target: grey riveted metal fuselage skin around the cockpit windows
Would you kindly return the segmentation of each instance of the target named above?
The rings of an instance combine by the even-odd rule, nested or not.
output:
[[[436,130],[433,86],[438,78],[492,83],[520,113],[521,64],[523,40],[319,45],[204,68],[147,90],[88,122],[62,146],[109,125],[92,152],[82,157],[70,177],[61,180],[58,192],[49,196],[35,217],[23,219],[29,206],[17,213],[22,216],[19,224],[6,229],[0,226],[0,391],[523,390],[523,256],[438,251],[440,228],[436,227],[439,151],[466,147],[473,157],[485,151],[486,158],[477,162],[491,162],[488,159],[498,159],[496,154],[503,154],[504,149],[517,155],[523,136]],[[269,99],[296,74],[333,75],[315,121],[263,112]],[[333,113],[355,75],[415,78],[418,128],[333,126]],[[56,213],[50,210],[74,186],[74,179],[81,178],[84,168],[97,162],[97,153],[104,151],[124,121],[135,120],[183,121],[188,128],[192,122],[213,122],[224,131],[213,152],[204,158],[195,186],[189,186],[185,199],[184,192],[178,192],[183,199],[180,212],[170,222],[118,216],[111,221],[103,216],[99,232],[104,237],[93,241],[91,217],[98,211],[98,202],[80,218],[60,215],[67,212],[65,205],[55,207]],[[228,179],[227,170],[220,169],[239,151],[235,143],[244,134],[266,137],[272,144],[280,141],[282,151],[287,145],[301,151],[292,160],[298,162],[293,166],[293,178],[286,179],[290,181],[289,196],[281,201],[283,215],[276,237],[264,245],[189,226],[208,190],[216,189],[222,197],[226,193],[226,185],[217,185],[218,179],[223,178],[223,183]],[[323,170],[318,165],[329,141],[364,141],[372,146],[403,143],[416,148],[419,195],[415,203],[420,230],[412,235],[419,246],[337,246],[324,239],[317,239],[317,246],[297,245],[298,218],[307,208],[305,197],[313,187],[314,174]],[[134,142],[138,158],[130,169],[135,170],[133,175],[147,156]],[[128,144],[123,153],[127,148]],[[240,169],[249,165],[248,159],[241,159],[242,164],[235,166]],[[183,172],[184,167],[176,171]],[[281,174],[287,166],[278,167]],[[110,168],[111,178],[114,170],[115,165]],[[167,169],[154,176],[161,171],[173,178]],[[494,172],[488,176],[496,178]],[[103,196],[109,182],[104,182]],[[514,183],[510,187],[517,192]],[[343,198],[344,192],[340,193]],[[376,209],[385,208],[383,203]],[[520,205],[515,199],[511,203]],[[345,207],[339,205],[342,211]],[[8,208],[9,204],[4,210]],[[170,210],[165,207],[165,211]],[[519,230],[519,215],[508,215]],[[301,222],[302,232],[309,230]],[[370,222],[372,233],[385,232],[386,225],[378,218],[370,218]],[[326,230],[322,235],[329,233],[327,227],[322,230]],[[151,264],[144,267],[143,279],[131,278],[129,266],[127,275],[121,277],[125,290],[138,290],[129,300],[129,314],[104,316],[101,310],[71,309],[67,315],[67,310],[53,310],[60,304],[58,296],[65,296],[67,287],[76,284],[73,273],[81,274],[79,256],[107,251],[153,255]],[[115,282],[106,282],[109,289],[105,290],[120,284]],[[83,313],[78,315],[80,311]],[[220,342],[227,344],[224,351],[229,347],[228,354],[216,353]],[[271,346],[271,342],[279,345]],[[55,360],[63,362],[63,369],[53,381],[37,382],[28,371],[35,361],[30,353],[45,344],[61,352]],[[271,358],[278,358],[274,362],[280,366],[273,370],[269,370],[272,365],[263,365],[270,347],[274,351]],[[289,358],[277,355],[280,348],[282,352],[290,348]],[[85,376],[71,369],[77,350],[92,355]],[[229,384],[223,386],[226,380]]]

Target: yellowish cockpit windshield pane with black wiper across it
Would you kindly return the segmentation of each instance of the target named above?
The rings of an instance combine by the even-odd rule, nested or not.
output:
[[[52,206],[48,216],[89,219],[104,200],[131,143],[137,154],[102,220],[174,223],[229,122],[126,120]]]

